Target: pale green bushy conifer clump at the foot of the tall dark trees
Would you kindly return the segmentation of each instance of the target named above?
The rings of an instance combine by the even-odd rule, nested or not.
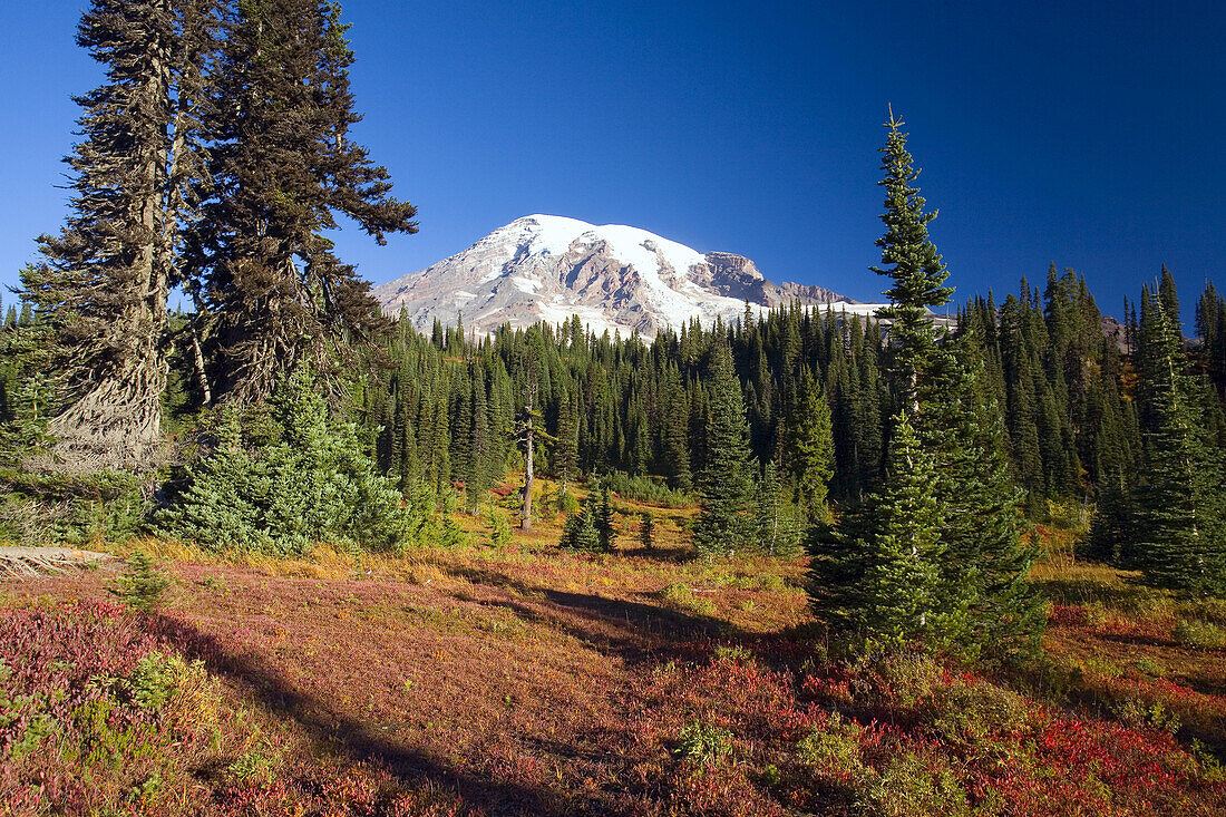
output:
[[[329,416],[310,372],[283,382],[267,406],[223,408],[217,445],[188,469],[158,530],[213,551],[300,554],[314,542],[400,550],[422,534],[419,503],[401,507],[358,427]]]

